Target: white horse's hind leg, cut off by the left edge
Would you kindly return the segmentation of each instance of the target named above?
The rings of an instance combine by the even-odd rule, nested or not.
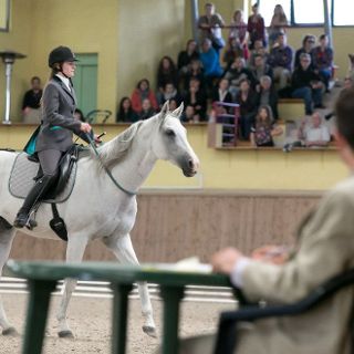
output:
[[[6,261],[9,258],[12,240],[14,238],[15,229],[11,227],[4,219],[0,217],[0,275]],[[15,329],[10,324],[0,298],[0,326],[3,335],[17,335]]]

